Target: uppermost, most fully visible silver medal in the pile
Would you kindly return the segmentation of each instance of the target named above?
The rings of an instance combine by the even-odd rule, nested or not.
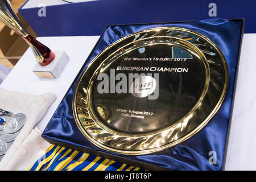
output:
[[[22,113],[11,116],[5,123],[5,133],[12,134],[20,130],[26,121],[26,115]]]

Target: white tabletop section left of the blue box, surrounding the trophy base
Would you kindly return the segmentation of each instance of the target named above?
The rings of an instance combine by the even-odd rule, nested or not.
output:
[[[36,59],[29,48],[2,82],[1,88],[35,95],[47,92],[52,92],[56,95],[55,102],[53,102],[46,115],[38,123],[37,127],[43,131],[98,38],[100,36],[38,38],[40,42],[49,47],[53,52],[54,50],[64,50],[69,56],[70,59],[61,76],[57,79],[37,77],[32,72],[32,68],[38,63],[36,63]]]

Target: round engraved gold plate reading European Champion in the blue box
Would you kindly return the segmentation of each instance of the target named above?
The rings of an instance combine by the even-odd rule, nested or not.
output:
[[[127,81],[134,74],[138,77]],[[106,92],[99,92],[102,75],[109,76],[109,85],[102,86]],[[118,40],[93,59],[77,82],[73,114],[97,147],[150,154],[203,129],[227,86],[225,57],[211,40],[184,28],[151,28]]]

